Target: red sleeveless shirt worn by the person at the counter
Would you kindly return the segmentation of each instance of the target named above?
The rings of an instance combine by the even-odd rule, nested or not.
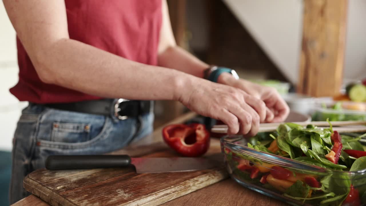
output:
[[[157,65],[161,0],[65,0],[65,3],[71,39],[126,59]],[[100,99],[42,82],[19,38],[16,40],[19,82],[10,92],[20,101],[61,103]]]

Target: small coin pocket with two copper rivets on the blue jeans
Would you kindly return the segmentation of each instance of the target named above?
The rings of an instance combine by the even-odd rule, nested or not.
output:
[[[78,143],[90,140],[90,124],[54,122],[51,141]]]

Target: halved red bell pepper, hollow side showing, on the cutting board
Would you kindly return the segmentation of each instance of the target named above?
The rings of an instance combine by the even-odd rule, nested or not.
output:
[[[210,133],[203,124],[173,124],[163,128],[163,139],[171,148],[186,157],[205,154],[210,146]]]

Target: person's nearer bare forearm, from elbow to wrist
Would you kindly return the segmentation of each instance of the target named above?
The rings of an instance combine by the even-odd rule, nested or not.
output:
[[[42,51],[35,67],[43,81],[105,98],[172,100],[183,82],[195,78],[70,39],[61,39]]]

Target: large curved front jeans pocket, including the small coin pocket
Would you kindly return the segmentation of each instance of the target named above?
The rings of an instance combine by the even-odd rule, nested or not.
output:
[[[68,150],[97,144],[108,136],[111,120],[103,115],[49,109],[38,126],[38,146]]]

